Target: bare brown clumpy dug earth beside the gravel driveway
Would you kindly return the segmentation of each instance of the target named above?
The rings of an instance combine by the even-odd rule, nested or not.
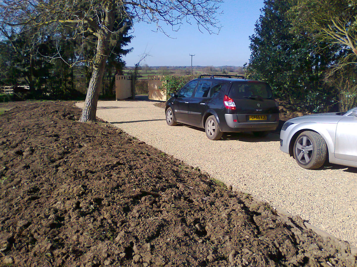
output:
[[[0,104],[0,266],[357,266],[347,242],[232,192],[72,102]]]

